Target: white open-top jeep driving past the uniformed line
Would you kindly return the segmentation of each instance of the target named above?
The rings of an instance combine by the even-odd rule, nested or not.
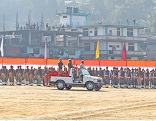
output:
[[[86,69],[81,70],[79,78],[74,78],[74,68],[70,69],[68,76],[51,76],[49,84],[57,87],[58,90],[70,90],[72,87],[86,87],[88,91],[99,91],[103,81],[100,77],[91,76]]]

